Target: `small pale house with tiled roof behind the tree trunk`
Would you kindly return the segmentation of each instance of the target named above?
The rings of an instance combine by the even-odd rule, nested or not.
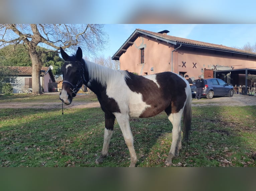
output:
[[[28,88],[32,90],[32,67],[10,66],[8,68],[11,71],[15,71],[15,77],[10,77],[10,82],[8,82],[13,86],[13,93],[18,93],[19,90],[22,90],[23,86],[28,86]],[[50,67],[41,68],[40,84],[42,87],[42,92],[57,91],[57,83],[55,83],[55,79]]]

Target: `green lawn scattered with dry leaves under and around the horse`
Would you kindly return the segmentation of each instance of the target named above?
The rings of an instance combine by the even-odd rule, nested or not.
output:
[[[59,101],[58,95],[0,96],[7,101]],[[95,101],[95,96],[76,100]],[[173,166],[256,167],[255,106],[192,107],[188,147],[173,159]],[[165,113],[132,118],[134,147],[139,167],[162,167],[171,144],[171,123]],[[0,107],[0,166],[6,167],[126,167],[129,151],[115,122],[109,155],[100,165],[104,113],[100,108],[60,109]]]

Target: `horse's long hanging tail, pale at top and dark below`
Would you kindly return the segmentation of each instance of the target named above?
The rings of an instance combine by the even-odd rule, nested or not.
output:
[[[186,145],[188,142],[188,137],[190,133],[190,128],[191,128],[191,118],[192,118],[192,111],[191,111],[191,101],[192,101],[192,94],[191,94],[191,89],[188,86],[186,89],[186,102],[183,110],[183,138],[186,141]]]

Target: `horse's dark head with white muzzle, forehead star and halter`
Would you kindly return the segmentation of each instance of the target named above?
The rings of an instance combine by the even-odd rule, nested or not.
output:
[[[69,56],[61,47],[60,53],[65,63],[61,67],[63,82],[59,99],[69,105],[83,85],[85,62],[82,59],[83,53],[80,47],[78,47],[76,55],[73,56]]]

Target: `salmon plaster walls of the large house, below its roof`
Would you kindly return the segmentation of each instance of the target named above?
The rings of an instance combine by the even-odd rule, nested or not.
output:
[[[144,63],[140,63],[140,49],[144,48]],[[181,46],[173,52],[174,45],[150,37],[138,37],[134,43],[120,57],[120,70],[136,72],[139,75],[150,75],[164,71],[189,75],[197,79],[203,75],[204,69],[231,70],[238,68],[256,68],[256,59],[252,56],[239,55],[228,52]],[[183,65],[183,63],[185,63]],[[193,64],[194,63],[194,64]],[[240,66],[236,66],[240,65]],[[150,69],[153,67],[153,71]]]

